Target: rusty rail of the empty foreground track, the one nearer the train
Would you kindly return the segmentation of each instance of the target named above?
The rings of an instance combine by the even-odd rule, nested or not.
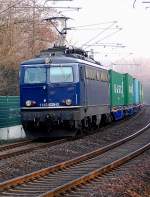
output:
[[[4,190],[7,190],[7,189],[9,189],[11,187],[15,187],[15,186],[27,183],[27,182],[34,181],[35,179],[38,180],[39,178],[47,176],[47,175],[49,175],[51,173],[54,173],[54,172],[57,172],[57,171],[61,171],[61,170],[64,170],[66,168],[70,168],[70,167],[72,167],[72,166],[74,166],[76,164],[79,164],[79,163],[83,162],[83,161],[87,161],[87,160],[89,160],[91,158],[94,158],[94,157],[96,157],[98,155],[101,155],[101,154],[107,152],[108,150],[111,150],[111,149],[113,149],[113,148],[115,148],[115,147],[117,147],[117,146],[119,146],[121,144],[124,144],[127,141],[130,141],[130,140],[134,139],[136,136],[142,134],[149,127],[150,127],[150,123],[147,126],[145,126],[143,129],[139,130],[138,132],[136,132],[136,133],[134,133],[134,134],[122,139],[122,140],[119,140],[119,141],[114,142],[114,143],[112,143],[110,145],[107,145],[107,146],[105,146],[103,148],[99,148],[99,149],[97,149],[95,151],[92,151],[90,153],[84,154],[84,155],[79,156],[79,157],[77,157],[75,159],[71,159],[69,161],[65,161],[65,162],[56,164],[54,166],[51,166],[51,167],[48,167],[48,168],[44,168],[42,170],[38,170],[38,171],[35,171],[33,173],[30,173],[30,174],[14,178],[14,179],[5,181],[3,183],[0,183],[0,191],[4,191]],[[111,164],[111,166],[113,166],[113,165]],[[93,175],[91,175],[90,177],[92,177],[92,176]]]

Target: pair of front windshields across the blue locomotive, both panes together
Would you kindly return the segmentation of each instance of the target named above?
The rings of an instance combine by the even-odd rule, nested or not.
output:
[[[78,81],[78,68],[72,65],[23,67],[24,84],[73,83]]]

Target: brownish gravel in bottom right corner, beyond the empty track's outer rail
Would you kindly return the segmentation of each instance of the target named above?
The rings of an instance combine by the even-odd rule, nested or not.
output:
[[[149,197],[150,150],[66,196],[74,194],[76,197]]]

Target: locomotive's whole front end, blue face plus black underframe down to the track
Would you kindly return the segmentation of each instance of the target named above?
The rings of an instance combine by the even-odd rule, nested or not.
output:
[[[38,137],[43,128],[43,137],[47,137],[53,127],[74,127],[81,115],[78,63],[21,65],[20,104],[28,137]]]

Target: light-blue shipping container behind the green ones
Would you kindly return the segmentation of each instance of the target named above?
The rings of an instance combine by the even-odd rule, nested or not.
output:
[[[138,105],[140,103],[140,91],[139,91],[139,80],[133,79],[133,104]]]

